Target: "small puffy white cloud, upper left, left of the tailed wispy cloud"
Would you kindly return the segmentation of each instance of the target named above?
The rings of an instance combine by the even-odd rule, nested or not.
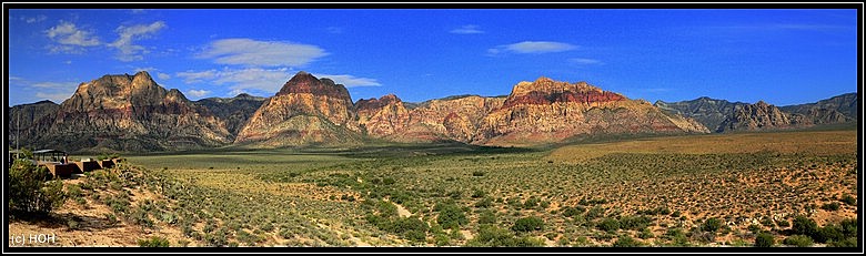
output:
[[[80,30],[74,23],[62,20],[44,32],[51,41],[58,43],[51,47],[51,52],[79,53],[85,47],[101,44],[91,31]]]

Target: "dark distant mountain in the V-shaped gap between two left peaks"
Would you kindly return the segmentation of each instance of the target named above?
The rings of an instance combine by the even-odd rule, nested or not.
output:
[[[255,113],[266,100],[263,96],[253,96],[246,93],[234,98],[208,98],[195,101],[195,104],[207,107],[213,115],[225,123],[225,130],[231,134],[231,140],[241,132],[246,121]]]

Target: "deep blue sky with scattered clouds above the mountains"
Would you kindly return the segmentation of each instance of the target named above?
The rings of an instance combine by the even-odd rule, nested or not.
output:
[[[9,105],[147,70],[189,99],[271,96],[298,71],[353,101],[586,81],[651,102],[787,105],[857,91],[856,10],[9,10]]]

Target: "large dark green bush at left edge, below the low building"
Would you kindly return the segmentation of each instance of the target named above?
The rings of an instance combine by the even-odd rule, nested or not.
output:
[[[63,205],[63,183],[50,181],[51,174],[27,160],[16,160],[9,168],[7,206],[17,216],[48,215]],[[49,181],[49,182],[46,182]]]

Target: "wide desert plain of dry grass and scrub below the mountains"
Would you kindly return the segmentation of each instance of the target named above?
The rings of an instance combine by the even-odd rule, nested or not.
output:
[[[753,246],[761,233],[792,246],[812,219],[815,246],[850,246],[857,143],[799,131],[133,155],[67,181],[53,219],[9,229],[61,246]]]

